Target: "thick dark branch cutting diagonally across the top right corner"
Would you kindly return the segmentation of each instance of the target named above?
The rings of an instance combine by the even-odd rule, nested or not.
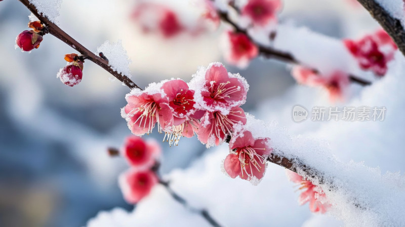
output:
[[[391,36],[398,49],[405,56],[405,30],[396,18],[385,10],[380,4],[374,0],[357,0],[374,19],[384,28],[384,30]],[[385,0],[388,1],[388,0]]]

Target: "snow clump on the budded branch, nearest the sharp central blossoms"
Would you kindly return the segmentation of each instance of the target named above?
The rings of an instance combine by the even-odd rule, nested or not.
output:
[[[95,53],[97,56],[103,52],[104,56],[108,59],[108,65],[111,68],[127,77],[131,78],[130,64],[132,61],[128,57],[127,51],[124,49],[122,42],[119,40],[116,43],[106,41],[101,47],[97,48]]]

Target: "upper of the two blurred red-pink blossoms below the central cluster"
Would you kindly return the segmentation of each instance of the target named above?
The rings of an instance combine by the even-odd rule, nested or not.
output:
[[[141,137],[130,136],[125,141],[123,152],[131,166],[147,169],[155,163],[161,148],[154,140],[145,141]]]

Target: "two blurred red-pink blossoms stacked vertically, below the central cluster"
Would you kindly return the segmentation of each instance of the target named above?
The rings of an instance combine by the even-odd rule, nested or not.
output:
[[[159,181],[155,166],[161,148],[154,140],[145,141],[141,137],[130,136],[126,139],[121,153],[130,168],[120,174],[119,187],[124,199],[130,204],[135,204],[149,195]]]

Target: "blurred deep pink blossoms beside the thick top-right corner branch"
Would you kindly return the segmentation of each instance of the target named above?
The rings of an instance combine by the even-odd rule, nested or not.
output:
[[[358,41],[344,40],[346,48],[356,58],[360,68],[372,70],[382,77],[388,70],[387,64],[397,49],[389,35],[382,29],[366,35]]]

